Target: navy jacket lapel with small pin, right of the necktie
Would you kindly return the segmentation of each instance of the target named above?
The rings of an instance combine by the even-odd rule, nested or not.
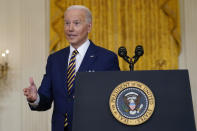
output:
[[[96,46],[90,41],[88,50],[83,58],[81,66],[79,67],[78,72],[87,72],[91,70],[91,66],[96,60]]]

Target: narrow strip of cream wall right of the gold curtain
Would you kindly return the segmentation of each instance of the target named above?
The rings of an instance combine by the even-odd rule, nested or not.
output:
[[[182,52],[180,69],[188,69],[197,125],[197,0],[180,0]]]

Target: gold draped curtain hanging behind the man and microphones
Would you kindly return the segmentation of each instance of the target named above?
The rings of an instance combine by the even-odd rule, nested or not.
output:
[[[136,70],[177,69],[180,53],[178,0],[51,0],[50,52],[68,46],[63,14],[70,5],[85,5],[93,15],[89,38],[117,53],[125,46],[129,56],[142,45],[144,55]],[[119,58],[121,70],[129,70]]]

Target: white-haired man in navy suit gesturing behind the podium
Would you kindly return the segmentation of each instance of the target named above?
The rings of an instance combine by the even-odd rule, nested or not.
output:
[[[71,131],[76,72],[118,71],[117,55],[96,46],[88,40],[92,28],[92,16],[84,6],[71,6],[64,14],[64,31],[70,46],[48,57],[46,74],[40,88],[32,78],[24,89],[32,110],[51,108],[52,131]]]

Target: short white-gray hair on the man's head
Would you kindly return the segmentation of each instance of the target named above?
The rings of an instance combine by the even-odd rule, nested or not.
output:
[[[86,13],[87,23],[92,23],[92,13],[90,12],[90,10],[87,7],[85,7],[83,5],[72,5],[67,8],[66,12],[69,10],[73,10],[73,9],[84,10]]]

